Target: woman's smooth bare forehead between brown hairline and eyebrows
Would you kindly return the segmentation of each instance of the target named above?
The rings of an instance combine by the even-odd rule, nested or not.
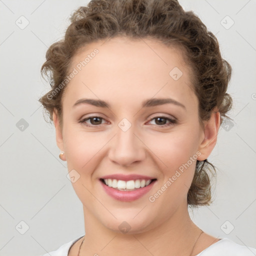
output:
[[[125,95],[122,100],[166,93],[178,99],[192,93],[191,71],[182,50],[148,38],[115,37],[89,43],[73,56],[72,70],[76,74],[65,92],[70,100],[83,92],[94,98],[109,92],[112,99]]]

